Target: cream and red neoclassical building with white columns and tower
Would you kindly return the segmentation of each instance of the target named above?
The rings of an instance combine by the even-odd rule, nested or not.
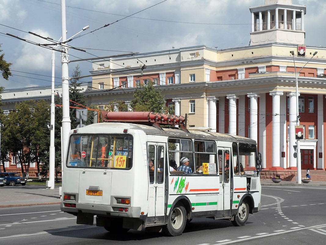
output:
[[[292,0],[251,7],[245,47],[202,45],[94,59],[85,96],[89,104],[128,105],[137,85],[152,80],[176,115],[187,114],[187,127],[255,139],[267,170],[297,168],[298,102],[302,169],[326,169],[326,48],[305,44],[305,11]]]

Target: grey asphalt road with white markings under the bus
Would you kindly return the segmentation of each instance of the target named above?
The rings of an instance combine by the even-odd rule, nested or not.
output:
[[[145,231],[118,236],[95,225],[77,225],[58,204],[7,207],[0,209],[0,244],[323,244],[325,194],[325,186],[264,186],[262,209],[245,226],[194,219],[179,237]]]

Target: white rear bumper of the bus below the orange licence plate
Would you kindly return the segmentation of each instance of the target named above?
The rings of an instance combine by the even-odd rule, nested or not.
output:
[[[114,217],[127,217],[127,218],[140,218],[140,207],[127,207],[127,206],[111,206],[101,204],[85,204],[76,203],[76,207],[65,207],[65,202],[60,203],[60,209],[67,213],[88,213],[102,216]]]

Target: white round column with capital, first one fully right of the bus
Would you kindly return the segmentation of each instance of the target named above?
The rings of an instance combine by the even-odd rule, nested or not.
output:
[[[272,168],[280,167],[280,109],[281,95],[283,91],[272,91],[269,95],[273,96],[273,119],[272,119]]]

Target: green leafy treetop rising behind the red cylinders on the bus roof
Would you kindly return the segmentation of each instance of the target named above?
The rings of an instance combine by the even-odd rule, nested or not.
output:
[[[154,86],[153,81],[149,81],[135,89],[134,99],[131,100],[130,106],[133,111],[166,113],[169,111],[169,108],[165,104],[161,90]],[[172,113],[171,108],[169,112]]]

